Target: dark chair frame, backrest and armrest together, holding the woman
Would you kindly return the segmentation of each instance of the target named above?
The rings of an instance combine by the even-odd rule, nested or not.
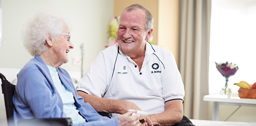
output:
[[[11,84],[6,80],[5,76],[0,73],[2,80],[2,92],[4,94],[5,106],[6,106],[6,117],[8,126],[14,125],[13,119],[13,100],[12,97],[15,91],[15,85]],[[18,125],[72,125],[72,119],[67,118],[36,118],[36,119],[21,119],[18,121]]]

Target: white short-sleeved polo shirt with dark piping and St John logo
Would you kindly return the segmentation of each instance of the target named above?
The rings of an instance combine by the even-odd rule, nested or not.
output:
[[[183,100],[185,94],[172,52],[148,42],[141,71],[115,44],[100,52],[77,90],[134,102],[148,114],[163,112],[166,101]]]

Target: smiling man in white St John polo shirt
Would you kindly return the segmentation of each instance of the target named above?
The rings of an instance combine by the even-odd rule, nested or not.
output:
[[[173,54],[147,42],[152,31],[153,16],[146,8],[135,4],[124,9],[118,44],[101,51],[79,82],[78,95],[97,111],[137,109],[148,112],[149,125],[179,123],[184,86]]]

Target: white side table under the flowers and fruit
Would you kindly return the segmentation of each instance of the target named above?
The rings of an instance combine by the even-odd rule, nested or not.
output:
[[[238,95],[233,95],[231,98],[221,94],[205,95],[204,101],[213,101],[212,120],[219,120],[219,104],[239,105],[231,115],[233,115],[241,106],[256,106],[256,99],[239,98]],[[225,119],[225,121],[227,119]]]

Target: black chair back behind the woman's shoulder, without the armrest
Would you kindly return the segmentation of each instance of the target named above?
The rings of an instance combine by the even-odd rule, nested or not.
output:
[[[2,80],[2,92],[4,94],[4,99],[5,99],[7,123],[8,125],[12,125],[14,123],[12,97],[14,95],[15,85],[7,81],[5,76],[1,73],[0,73],[0,78]]]

